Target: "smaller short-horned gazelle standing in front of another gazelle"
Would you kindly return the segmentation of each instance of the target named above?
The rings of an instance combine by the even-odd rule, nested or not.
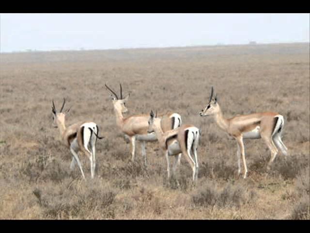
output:
[[[193,125],[181,125],[179,128],[171,131],[163,132],[161,129],[160,118],[154,116],[153,111],[150,113],[148,121],[148,133],[155,132],[158,138],[160,147],[165,151],[167,160],[167,174],[170,179],[170,161],[169,156],[176,156],[172,172],[174,174],[176,167],[180,163],[181,154],[184,154],[187,162],[193,170],[193,182],[198,178],[198,158],[197,148],[200,137],[200,130]],[[192,157],[194,155],[194,159]]]

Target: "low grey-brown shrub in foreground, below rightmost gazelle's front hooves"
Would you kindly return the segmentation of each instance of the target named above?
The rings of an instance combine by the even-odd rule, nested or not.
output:
[[[192,201],[195,205],[240,208],[241,205],[249,200],[252,201],[255,197],[255,192],[248,192],[242,184],[228,183],[222,190],[218,190],[214,184],[207,183],[192,196]]]

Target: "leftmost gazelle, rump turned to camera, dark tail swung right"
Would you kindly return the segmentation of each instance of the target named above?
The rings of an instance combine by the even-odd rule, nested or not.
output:
[[[91,177],[93,178],[96,166],[95,145],[97,138],[102,139],[103,137],[98,136],[98,126],[96,123],[91,121],[79,122],[66,127],[65,115],[69,112],[70,108],[62,112],[65,101],[66,100],[63,98],[62,108],[59,112],[56,111],[54,101],[52,101],[53,126],[55,128],[59,128],[62,136],[62,142],[67,148],[70,149],[73,155],[70,169],[73,170],[75,163],[77,163],[82,176],[85,179],[85,175],[78,158],[78,151],[81,150],[90,160]]]

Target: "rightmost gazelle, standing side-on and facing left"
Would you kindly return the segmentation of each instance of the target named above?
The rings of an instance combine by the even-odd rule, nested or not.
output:
[[[240,150],[244,166],[244,176],[247,177],[247,165],[245,158],[245,150],[243,139],[259,139],[263,138],[265,144],[271,151],[271,158],[267,165],[270,169],[271,163],[275,160],[279,150],[286,156],[287,148],[281,140],[281,134],[284,127],[284,118],[282,115],[274,112],[254,113],[249,115],[238,115],[232,118],[225,118],[217,102],[217,95],[213,98],[213,86],[211,95],[205,109],[199,113],[200,116],[214,116],[219,128],[237,141],[237,159],[238,159],[238,174],[241,173],[240,168]],[[275,146],[276,144],[276,146]]]

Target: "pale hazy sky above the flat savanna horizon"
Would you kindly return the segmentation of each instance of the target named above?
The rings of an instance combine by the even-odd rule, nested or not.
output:
[[[310,14],[0,14],[0,51],[310,42]]]

